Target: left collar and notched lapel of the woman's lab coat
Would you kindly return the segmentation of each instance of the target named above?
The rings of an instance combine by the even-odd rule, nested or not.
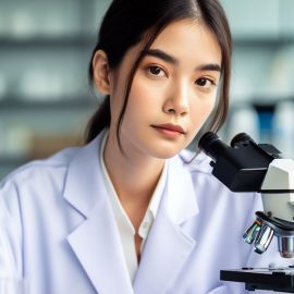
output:
[[[68,241],[98,293],[128,294],[132,283],[99,169],[101,138],[83,147],[69,167],[64,197],[85,220]]]

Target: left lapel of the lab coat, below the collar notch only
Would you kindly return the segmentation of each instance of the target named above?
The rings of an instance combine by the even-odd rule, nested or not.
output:
[[[68,240],[98,293],[131,294],[132,283],[110,212],[96,208]]]

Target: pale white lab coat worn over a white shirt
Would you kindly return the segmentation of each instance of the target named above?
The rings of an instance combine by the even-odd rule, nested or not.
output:
[[[25,277],[32,294],[240,294],[220,269],[268,266],[242,241],[260,197],[233,194],[200,155],[168,160],[158,216],[130,281],[99,167],[102,134],[9,175],[0,185],[0,277]],[[134,179],[136,181],[136,179]],[[264,293],[264,292],[262,292]]]

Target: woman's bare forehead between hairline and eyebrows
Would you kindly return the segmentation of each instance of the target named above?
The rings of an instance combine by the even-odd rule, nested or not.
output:
[[[155,39],[151,49],[161,49],[181,60],[221,64],[221,48],[216,35],[199,21],[169,24]]]

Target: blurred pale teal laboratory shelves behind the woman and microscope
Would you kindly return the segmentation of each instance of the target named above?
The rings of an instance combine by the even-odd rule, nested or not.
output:
[[[294,158],[294,1],[221,0],[234,39],[231,110],[220,131]],[[110,0],[0,0],[0,179],[83,143],[99,103],[87,69]]]

